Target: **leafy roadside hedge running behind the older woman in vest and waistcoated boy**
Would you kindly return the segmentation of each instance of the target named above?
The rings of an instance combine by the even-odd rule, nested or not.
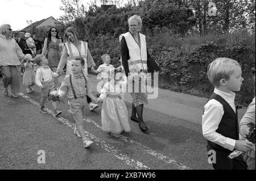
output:
[[[116,37],[101,35],[88,41],[97,66],[101,55],[109,53],[114,66],[120,65],[120,46]],[[168,33],[147,35],[147,48],[162,70],[159,87],[197,96],[209,97],[214,87],[207,78],[207,66],[217,57],[237,60],[245,79],[237,103],[247,106],[254,97],[250,69],[255,66],[255,33],[233,32],[228,35],[175,37]]]

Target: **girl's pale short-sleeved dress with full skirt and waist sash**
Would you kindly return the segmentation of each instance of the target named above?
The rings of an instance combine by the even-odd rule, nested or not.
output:
[[[122,131],[131,131],[127,107],[123,100],[122,86],[126,86],[126,81],[119,81],[115,86],[114,83],[107,82],[101,90],[100,98],[104,100],[101,123],[104,132],[119,134]]]

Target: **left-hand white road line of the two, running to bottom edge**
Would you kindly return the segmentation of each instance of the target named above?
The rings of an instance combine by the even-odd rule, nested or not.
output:
[[[37,107],[40,107],[40,104],[38,102],[36,102],[35,100],[31,99],[29,96],[23,94],[22,92],[18,93],[20,96],[22,96],[24,99],[28,100],[29,102],[31,102],[32,104],[34,104]],[[48,111],[49,114],[51,114],[52,116],[54,115],[53,111],[46,109]],[[67,125],[68,127],[75,129],[75,124],[71,123],[70,121],[68,121],[67,119],[64,119],[63,117],[55,117],[55,119],[61,121],[61,123]],[[97,138],[96,136],[94,136],[93,134],[85,131],[85,134],[87,137],[91,138],[96,145],[101,146],[102,149],[108,151],[109,153],[113,154],[115,157],[117,157],[118,159],[121,159],[122,161],[125,161],[125,163],[131,167],[135,167],[138,170],[149,170],[150,167],[144,165],[142,162],[136,161],[132,158],[130,158],[128,155],[126,154],[122,154],[120,150],[115,149],[113,146],[107,144],[105,141],[100,140],[99,138]]]

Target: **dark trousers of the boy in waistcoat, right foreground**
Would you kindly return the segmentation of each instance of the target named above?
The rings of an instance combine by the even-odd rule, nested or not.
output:
[[[242,155],[230,159],[230,151],[216,151],[216,163],[213,163],[215,170],[247,170],[247,164]]]

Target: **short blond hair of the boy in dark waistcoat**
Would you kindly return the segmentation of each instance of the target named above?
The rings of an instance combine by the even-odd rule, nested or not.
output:
[[[220,87],[220,80],[230,78],[235,66],[240,66],[236,60],[230,58],[216,58],[208,65],[207,76],[214,87]]]

